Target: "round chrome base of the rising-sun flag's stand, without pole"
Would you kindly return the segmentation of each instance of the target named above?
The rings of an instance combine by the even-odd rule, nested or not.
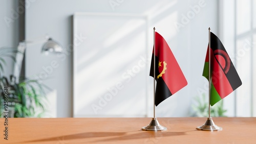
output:
[[[205,124],[197,127],[197,129],[202,131],[222,131],[222,127],[215,125],[211,117],[207,117]]]

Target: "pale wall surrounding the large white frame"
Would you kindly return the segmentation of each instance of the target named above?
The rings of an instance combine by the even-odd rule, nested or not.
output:
[[[26,2],[31,3],[26,11],[26,39],[37,39],[49,34],[61,43],[65,50],[70,50],[72,44],[72,15],[75,12],[147,15],[148,27],[151,28],[148,33],[152,34],[153,27],[157,28],[172,49],[188,81],[186,87],[156,108],[156,116],[189,116],[193,97],[199,95],[197,90],[203,89],[206,83],[206,79],[202,77],[202,70],[208,43],[208,27],[218,35],[217,1],[33,0],[32,2],[27,0]],[[116,2],[117,5],[111,6],[110,2]],[[199,3],[202,6],[200,10],[193,12],[191,7]],[[189,15],[190,18],[184,18],[187,17],[185,15]],[[177,22],[182,26],[179,29],[175,27]],[[149,37],[152,39],[152,36]],[[153,42],[148,47],[150,51],[151,45]],[[41,76],[43,82],[52,88],[48,91],[49,116],[71,117],[73,109],[72,51],[66,51],[65,57],[57,57],[41,55],[40,49],[40,44],[28,47],[26,76]],[[52,61],[56,61],[58,67],[51,67]],[[153,80],[151,84],[152,82]],[[148,93],[152,93],[152,90],[148,90]],[[152,113],[151,106],[149,108],[148,113]]]

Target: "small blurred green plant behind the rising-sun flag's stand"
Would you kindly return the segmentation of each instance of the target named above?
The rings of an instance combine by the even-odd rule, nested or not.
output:
[[[192,105],[193,112],[191,113],[191,116],[199,116],[199,117],[208,117],[208,111],[209,111],[209,102],[208,99],[206,99],[206,94],[203,93],[202,97],[196,97],[195,98],[195,104]],[[207,97],[208,98],[208,97]],[[210,115],[212,117],[225,117],[225,113],[227,110],[223,108],[223,100],[215,104],[214,106],[210,107]]]

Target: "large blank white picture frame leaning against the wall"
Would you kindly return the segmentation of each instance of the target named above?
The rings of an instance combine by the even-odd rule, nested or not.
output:
[[[146,116],[147,27],[144,15],[74,14],[73,117]]]

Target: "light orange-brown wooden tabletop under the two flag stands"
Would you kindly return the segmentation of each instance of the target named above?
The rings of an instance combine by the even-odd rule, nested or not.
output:
[[[158,118],[167,131],[141,128],[151,118],[0,118],[0,143],[256,143],[256,117],[214,117],[223,131],[196,130],[205,117]]]

